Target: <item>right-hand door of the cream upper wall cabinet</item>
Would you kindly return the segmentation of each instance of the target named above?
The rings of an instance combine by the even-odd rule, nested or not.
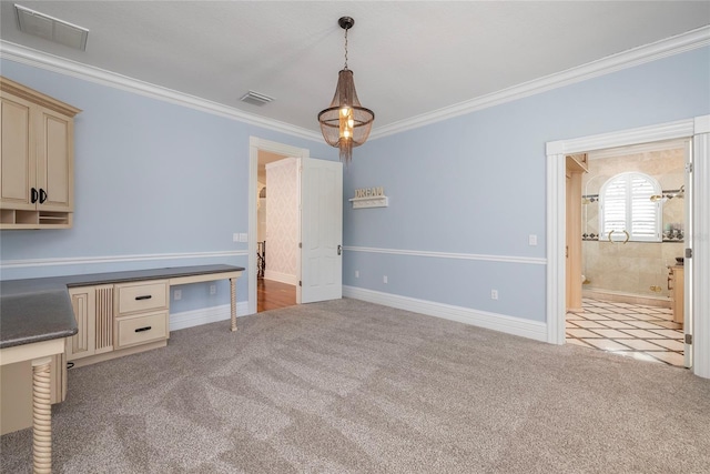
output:
[[[38,108],[37,186],[38,209],[73,209],[73,120],[52,110]]]

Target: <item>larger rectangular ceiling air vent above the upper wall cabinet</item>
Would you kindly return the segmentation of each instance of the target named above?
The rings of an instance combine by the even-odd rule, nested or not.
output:
[[[20,31],[45,40],[54,41],[70,48],[82,51],[87,50],[87,38],[89,30],[85,28],[71,24],[67,21],[59,20],[39,11],[30,10],[20,4],[14,6],[18,13],[18,26]]]

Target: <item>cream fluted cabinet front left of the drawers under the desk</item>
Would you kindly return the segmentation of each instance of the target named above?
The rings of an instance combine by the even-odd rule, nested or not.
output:
[[[113,285],[69,289],[79,332],[67,339],[67,360],[113,351]]]

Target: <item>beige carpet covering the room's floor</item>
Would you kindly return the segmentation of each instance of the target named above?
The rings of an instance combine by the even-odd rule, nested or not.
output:
[[[710,381],[355,300],[69,371],[59,473],[707,473]],[[0,471],[30,472],[31,432]]]

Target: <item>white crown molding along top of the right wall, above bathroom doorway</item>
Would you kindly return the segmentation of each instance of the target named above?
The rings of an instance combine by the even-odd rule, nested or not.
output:
[[[477,110],[488,109],[494,105],[535,95],[551,89],[586,81],[588,79],[632,68],[646,62],[656,61],[669,56],[679,54],[708,44],[710,44],[710,26],[701,27],[687,33],[678,34],[650,44],[633,48],[577,68],[571,68],[566,71],[524,82],[518,85],[435,110],[433,112],[423,113],[410,119],[378,127],[373,129],[369,139],[376,140],[383,137],[440,122],[443,120],[464,115]]]

